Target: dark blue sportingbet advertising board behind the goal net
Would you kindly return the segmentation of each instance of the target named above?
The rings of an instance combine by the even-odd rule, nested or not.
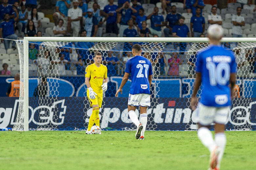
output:
[[[131,129],[127,110],[127,97],[104,97],[100,108],[100,127],[106,129]],[[245,101],[239,100],[239,101]],[[226,122],[228,130],[256,130],[256,98],[247,103],[233,101]],[[16,123],[19,99],[0,97],[0,128],[13,127]],[[38,103],[51,103],[38,105]],[[147,129],[150,130],[195,130],[197,116],[189,108],[188,98],[152,98],[148,108]],[[86,129],[92,113],[85,97],[29,98],[29,127],[51,127],[56,130]],[[139,110],[136,110],[139,116]]]

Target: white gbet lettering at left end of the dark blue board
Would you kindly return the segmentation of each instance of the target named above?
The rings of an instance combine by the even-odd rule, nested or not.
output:
[[[0,108],[0,127],[7,127],[18,124],[16,122],[18,105],[22,102],[15,100],[13,108]],[[36,125],[62,125],[64,123],[66,108],[65,99],[53,102],[52,106],[38,106],[32,108],[29,106],[29,123]]]

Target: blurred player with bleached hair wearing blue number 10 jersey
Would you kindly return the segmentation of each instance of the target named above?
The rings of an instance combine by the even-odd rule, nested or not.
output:
[[[203,90],[197,107],[198,137],[210,151],[209,170],[219,170],[226,145],[224,133],[228,118],[233,88],[236,83],[236,61],[234,54],[221,46],[223,28],[220,25],[210,25],[208,38],[210,46],[197,55],[194,91],[191,107],[196,109],[197,92],[202,84]],[[215,139],[209,130],[215,123]]]

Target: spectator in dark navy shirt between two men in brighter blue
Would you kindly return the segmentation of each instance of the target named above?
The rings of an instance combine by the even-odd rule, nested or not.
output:
[[[163,30],[164,37],[169,37],[169,34],[172,34],[173,26],[175,24],[178,24],[178,20],[179,20],[181,14],[177,13],[176,11],[177,11],[176,6],[173,5],[172,12],[167,14],[167,16],[165,18],[166,28],[164,28],[164,30]]]

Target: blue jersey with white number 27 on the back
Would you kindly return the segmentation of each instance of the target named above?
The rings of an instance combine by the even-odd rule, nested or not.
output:
[[[135,56],[126,62],[126,73],[132,75],[132,85],[130,87],[130,94],[150,94],[150,87],[148,76],[152,75],[151,62],[142,57]]]

